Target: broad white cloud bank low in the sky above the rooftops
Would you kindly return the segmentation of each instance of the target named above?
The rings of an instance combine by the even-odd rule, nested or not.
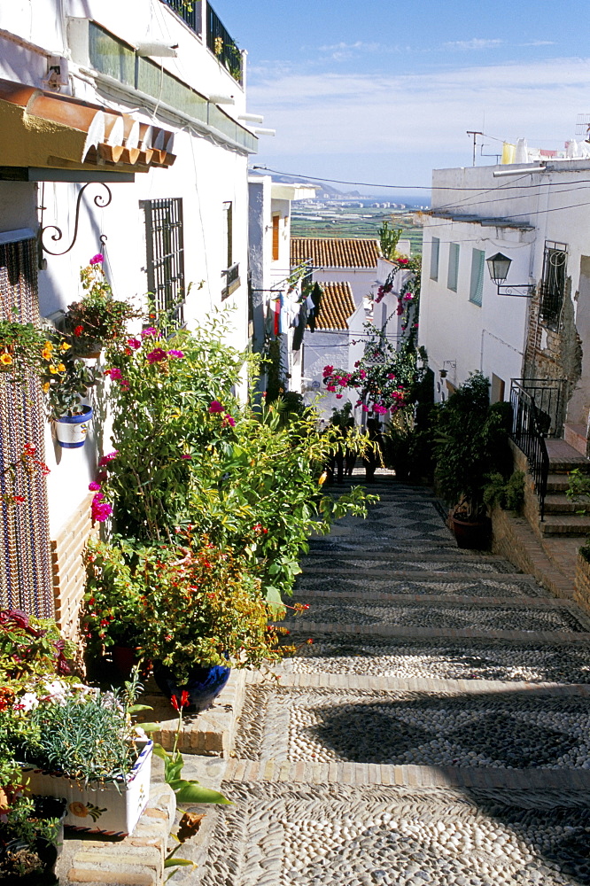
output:
[[[590,59],[470,66],[434,74],[292,74],[251,78],[249,105],[276,128],[278,155],[460,152],[467,129],[561,148],[586,109]],[[266,145],[264,145],[266,148]],[[270,147],[270,146],[268,146]],[[459,164],[457,164],[459,165]]]

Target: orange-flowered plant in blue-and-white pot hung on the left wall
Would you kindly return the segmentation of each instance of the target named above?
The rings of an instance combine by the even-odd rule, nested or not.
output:
[[[43,373],[43,392],[50,416],[55,422],[58,444],[64,449],[78,449],[86,441],[92,407],[83,403],[89,388],[102,378],[102,371],[89,366],[67,343],[51,346],[60,350],[57,370],[50,364]],[[66,348],[66,349],[64,349]]]

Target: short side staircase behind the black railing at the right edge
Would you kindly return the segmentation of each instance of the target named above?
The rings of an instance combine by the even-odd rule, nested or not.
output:
[[[590,534],[590,513],[580,514],[584,508],[582,501],[570,501],[565,494],[568,488],[568,474],[576,468],[590,472],[590,459],[571,447],[563,439],[547,439],[549,475],[545,498],[545,519],[540,521],[540,532],[544,536],[566,535],[586,536]]]

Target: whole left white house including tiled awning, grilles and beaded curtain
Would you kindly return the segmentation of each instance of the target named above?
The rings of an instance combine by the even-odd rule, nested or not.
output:
[[[205,0],[191,9],[180,0],[44,0],[34,14],[30,4],[2,4],[4,319],[15,300],[20,319],[56,315],[81,294],[80,268],[103,252],[115,296],[178,303],[189,327],[231,306],[231,342],[246,346],[247,160],[257,137],[245,76],[245,53]],[[109,441],[94,423],[84,448],[60,451],[49,423],[3,406],[3,470],[29,441],[50,475],[21,511],[35,532],[20,527],[23,549],[4,564],[0,601],[50,614],[55,593],[58,618],[72,627],[88,484]],[[12,532],[5,508],[1,519]]]

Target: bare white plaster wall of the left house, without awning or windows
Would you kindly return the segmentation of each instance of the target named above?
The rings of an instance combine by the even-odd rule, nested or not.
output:
[[[100,183],[89,184],[73,248],[64,255],[44,255],[38,276],[43,316],[79,298],[80,268],[98,252],[105,253],[115,297],[145,304],[149,287],[143,201],[175,200],[182,206],[184,321],[194,327],[215,308],[231,307],[230,343],[247,346],[247,162],[256,138],[238,120],[245,113],[244,87],[207,48],[205,7],[205,2],[194,4],[195,30],[162,0],[43,0],[35,4],[35,14],[24,0],[2,4],[0,78],[56,89],[59,95],[128,113],[140,123],[174,133],[174,165],[137,173],[133,183],[112,178],[109,206],[95,205],[95,196],[105,190]],[[106,40],[111,50],[119,47],[120,56],[108,51],[101,56],[97,39]],[[136,55],[142,44],[152,44],[155,53],[149,69]],[[159,46],[177,47],[176,58],[160,58]],[[130,57],[133,64],[126,67]],[[245,66],[245,53],[240,60]],[[51,66],[59,67],[59,75]],[[149,74],[141,84],[133,80],[134,66]],[[150,76],[155,78],[155,95],[146,91]],[[194,117],[187,110],[189,95],[195,101]],[[64,176],[59,170],[47,170],[46,177],[43,183],[0,180],[0,234],[23,228],[36,233],[42,225],[56,225],[63,238],[53,243],[44,237],[43,242],[59,252],[74,237],[76,198],[85,179],[77,180],[72,172],[69,182],[60,181]],[[101,234],[107,237],[105,248]],[[237,280],[228,287],[223,272],[235,265]],[[60,450],[47,424],[51,538],[88,495],[97,455],[110,448],[108,436],[95,423],[85,447]]]

